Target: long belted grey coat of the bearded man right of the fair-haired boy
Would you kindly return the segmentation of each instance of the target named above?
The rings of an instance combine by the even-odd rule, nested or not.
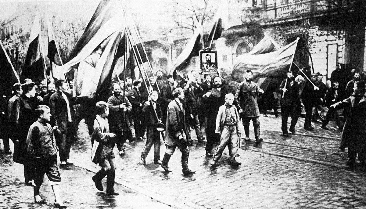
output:
[[[259,90],[261,88],[253,81],[250,82],[250,86],[248,86],[246,81],[243,81],[239,84],[238,89],[236,89],[236,108],[238,111],[240,109],[243,110],[241,114],[243,117],[258,117],[260,115],[257,97],[263,94]]]

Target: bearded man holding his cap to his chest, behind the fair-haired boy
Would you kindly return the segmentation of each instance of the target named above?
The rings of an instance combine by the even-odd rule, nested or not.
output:
[[[212,148],[215,142],[220,141],[220,134],[215,133],[216,117],[219,108],[225,104],[226,92],[222,88],[222,78],[216,76],[213,78],[213,88],[203,95],[202,101],[206,109],[207,126],[206,126],[206,156],[212,157]]]

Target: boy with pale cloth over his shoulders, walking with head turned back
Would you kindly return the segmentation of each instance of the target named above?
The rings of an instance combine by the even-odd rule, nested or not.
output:
[[[92,161],[102,167],[96,175],[93,176],[95,187],[103,191],[102,179],[107,175],[107,195],[119,195],[114,189],[116,176],[116,163],[113,148],[116,143],[116,134],[109,133],[108,115],[109,107],[104,101],[99,101],[95,105],[96,119],[94,120],[93,134],[91,135],[91,146],[99,142]]]

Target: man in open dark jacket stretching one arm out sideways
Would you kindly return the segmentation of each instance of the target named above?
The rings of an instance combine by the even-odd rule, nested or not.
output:
[[[57,143],[61,165],[74,165],[68,159],[70,158],[71,139],[76,134],[75,131],[75,111],[72,108],[74,104],[81,104],[94,97],[95,93],[90,93],[83,97],[72,97],[68,92],[67,82],[59,80],[56,82],[56,92],[49,99],[49,108],[51,110],[51,125],[53,128],[59,128],[61,139]]]

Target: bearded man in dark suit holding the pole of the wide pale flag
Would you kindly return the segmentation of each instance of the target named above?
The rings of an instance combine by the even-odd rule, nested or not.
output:
[[[281,117],[282,117],[282,126],[281,126],[282,136],[288,137],[288,131],[287,131],[288,116],[291,116],[290,132],[292,134],[296,134],[295,126],[299,118],[299,112],[301,113],[299,84],[295,81],[294,73],[292,71],[287,72],[287,78],[282,81],[279,90],[281,93],[280,104],[281,104]]]

